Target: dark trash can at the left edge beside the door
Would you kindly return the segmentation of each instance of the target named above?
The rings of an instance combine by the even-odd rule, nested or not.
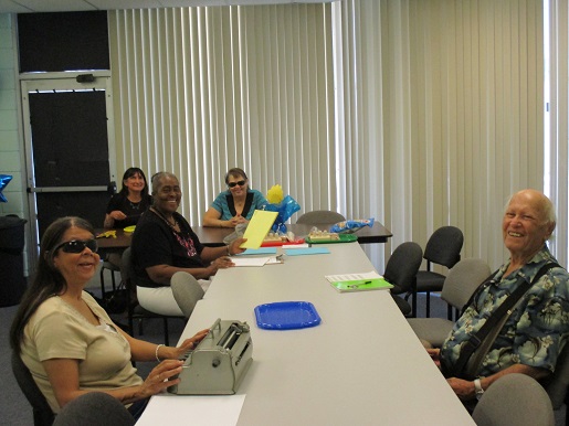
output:
[[[24,227],[15,215],[0,216],[0,307],[20,303],[25,291],[23,276]]]

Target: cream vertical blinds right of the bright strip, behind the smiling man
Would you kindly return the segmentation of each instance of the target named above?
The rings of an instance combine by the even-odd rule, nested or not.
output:
[[[464,257],[505,260],[507,196],[542,188],[542,12],[538,0],[349,1],[341,10],[346,181],[354,209],[423,247],[440,226],[465,234]],[[371,36],[381,23],[378,35]],[[356,70],[356,71],[352,71]],[[349,71],[349,73],[348,73]],[[371,78],[369,76],[375,76]],[[373,140],[371,135],[375,136]],[[351,156],[348,150],[369,155]],[[346,189],[348,192],[348,189]]]

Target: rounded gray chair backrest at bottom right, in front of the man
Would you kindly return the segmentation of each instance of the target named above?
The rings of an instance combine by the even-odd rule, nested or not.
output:
[[[554,426],[551,401],[528,375],[506,374],[482,395],[472,418],[477,426]]]

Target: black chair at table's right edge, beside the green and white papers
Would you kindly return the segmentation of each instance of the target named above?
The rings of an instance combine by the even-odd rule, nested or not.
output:
[[[412,306],[409,306],[407,300],[397,295],[402,295],[414,287],[417,279],[417,271],[423,260],[423,251],[417,243],[408,242],[400,244],[391,254],[383,278],[393,285],[391,288],[391,296],[396,301],[401,312],[405,316],[417,316],[417,300],[413,298]]]

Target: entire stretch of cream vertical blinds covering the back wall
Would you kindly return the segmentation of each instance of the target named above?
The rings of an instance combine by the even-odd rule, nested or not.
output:
[[[539,0],[112,11],[117,164],[177,173],[192,224],[240,166],[393,247],[456,225],[496,266],[507,196],[542,188],[541,19]]]

